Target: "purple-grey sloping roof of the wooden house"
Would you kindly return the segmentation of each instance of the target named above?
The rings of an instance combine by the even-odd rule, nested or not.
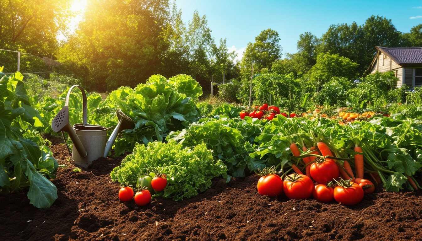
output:
[[[398,65],[422,64],[422,47],[387,48],[376,46],[376,48],[394,60]]]

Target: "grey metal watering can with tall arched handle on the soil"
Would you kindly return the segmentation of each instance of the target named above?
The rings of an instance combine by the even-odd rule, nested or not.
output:
[[[73,126],[69,123],[69,97],[73,88],[78,87],[82,92],[82,105],[83,105],[83,120],[82,123],[77,123]],[[70,87],[68,95],[66,96],[65,106],[54,117],[51,122],[51,128],[59,133],[62,132],[65,144],[68,147],[69,154],[75,165],[88,168],[92,161],[97,160],[99,157],[107,157],[108,152],[113,146],[117,134],[124,129],[133,129],[135,122],[126,116],[122,111],[117,111],[119,123],[114,129],[112,135],[107,140],[107,130],[113,127],[103,127],[100,125],[89,125],[88,122],[88,107],[87,107],[87,94],[84,88],[78,85]],[[64,132],[69,133],[69,137],[73,142],[73,150],[70,152],[69,146],[66,143]]]

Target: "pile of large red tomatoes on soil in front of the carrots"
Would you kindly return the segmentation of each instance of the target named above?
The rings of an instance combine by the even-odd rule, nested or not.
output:
[[[292,165],[296,173],[286,176],[284,180],[276,174],[262,176],[258,181],[258,192],[270,197],[281,195],[284,192],[290,199],[306,199],[314,196],[320,202],[335,200],[343,205],[356,205],[363,199],[364,194],[374,192],[375,186],[371,181],[360,178],[360,175],[354,178],[349,168],[343,168],[346,165],[340,166],[335,160],[325,158],[333,156],[325,143],[318,142],[317,146],[319,150],[311,148],[315,151],[309,157],[314,158],[309,160],[305,160],[308,157],[303,158],[307,167],[307,175],[304,175],[296,165]],[[299,152],[295,150],[298,149],[296,144],[293,143],[290,149],[294,156],[300,156],[299,153],[296,153]],[[349,177],[351,178],[349,179]]]

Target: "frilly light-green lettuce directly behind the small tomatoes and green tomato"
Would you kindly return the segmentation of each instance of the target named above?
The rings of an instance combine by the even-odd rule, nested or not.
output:
[[[136,144],[133,153],[111,171],[111,180],[135,186],[138,178],[151,169],[167,175],[167,187],[157,195],[176,201],[207,190],[214,177],[230,180],[226,165],[221,160],[215,160],[205,144],[185,148],[176,141]]]

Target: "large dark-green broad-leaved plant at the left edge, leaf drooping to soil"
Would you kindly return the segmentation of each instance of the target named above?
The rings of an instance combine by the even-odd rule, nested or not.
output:
[[[41,116],[31,105],[23,76],[16,72],[0,79],[0,192],[8,193],[29,187],[28,199],[37,208],[48,208],[57,199],[55,178],[57,160],[30,126],[42,126]],[[30,137],[30,139],[26,138]]]

